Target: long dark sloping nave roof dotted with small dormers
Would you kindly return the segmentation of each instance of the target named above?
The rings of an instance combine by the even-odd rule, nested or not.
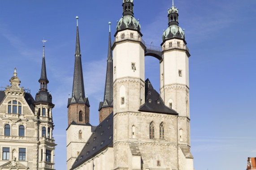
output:
[[[108,115],[108,117],[96,127],[74,162],[71,170],[74,170],[108,147],[113,147],[113,113]]]

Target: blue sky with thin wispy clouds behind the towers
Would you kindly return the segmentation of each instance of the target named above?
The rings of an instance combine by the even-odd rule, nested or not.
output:
[[[56,140],[55,168],[66,167],[67,100],[72,92],[76,16],[90,123],[99,121],[108,53],[122,0],[0,0],[0,86],[14,67],[21,86],[39,89],[43,37]],[[171,0],[135,0],[143,39],[160,46]],[[256,1],[174,0],[190,49],[191,152],[195,170],[246,169],[256,157]],[[159,61],[145,57],[146,78],[159,91]]]

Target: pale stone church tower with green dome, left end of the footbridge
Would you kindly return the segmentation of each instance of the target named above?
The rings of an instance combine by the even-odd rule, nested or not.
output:
[[[146,47],[141,38],[139,20],[134,17],[133,0],[123,0],[122,7],[123,17],[117,22],[112,47],[115,170],[141,168],[139,154],[129,156],[128,141],[132,139],[132,129],[139,131],[138,110],[145,100],[144,50]]]

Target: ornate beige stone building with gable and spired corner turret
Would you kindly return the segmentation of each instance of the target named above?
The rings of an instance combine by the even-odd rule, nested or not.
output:
[[[15,68],[11,86],[0,91],[0,170],[54,170],[54,104],[47,89],[44,46],[35,99],[20,83]]]

